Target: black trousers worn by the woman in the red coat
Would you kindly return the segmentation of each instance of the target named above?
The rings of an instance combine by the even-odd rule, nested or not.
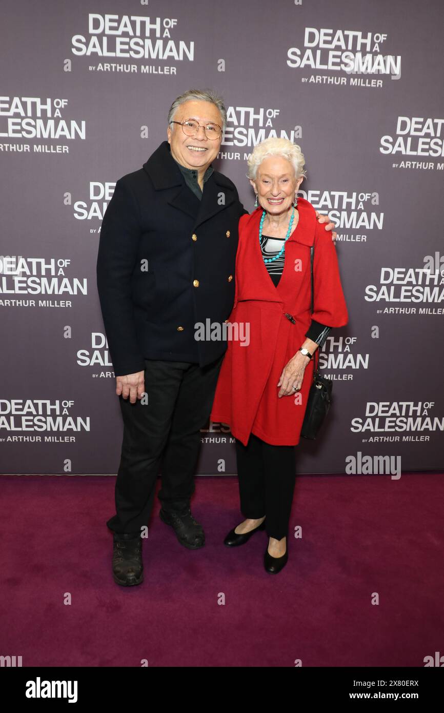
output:
[[[269,537],[288,535],[293,501],[296,446],[271,446],[251,434],[247,446],[236,439],[240,509],[245,518],[265,515]]]

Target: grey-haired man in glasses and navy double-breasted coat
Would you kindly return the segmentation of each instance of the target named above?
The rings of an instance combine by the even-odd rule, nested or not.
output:
[[[103,218],[98,292],[124,426],[116,513],[107,524],[113,578],[123,586],[143,581],[141,528],[160,463],[160,518],[185,547],[205,543],[190,498],[227,345],[197,341],[195,324],[229,317],[237,225],[246,212],[234,183],[212,168],[226,119],[215,93],[178,97],[167,141],[117,181]]]

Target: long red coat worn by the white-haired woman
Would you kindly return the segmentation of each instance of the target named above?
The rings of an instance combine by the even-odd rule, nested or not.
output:
[[[299,443],[313,361],[306,366],[301,390],[278,399],[282,369],[304,343],[311,319],[328,327],[348,321],[331,232],[316,221],[314,207],[298,198],[299,222],[285,246],[284,272],[278,287],[264,265],[259,247],[262,208],[239,220],[236,290],[229,322],[244,323],[242,337],[228,343],[217,382],[212,421],[231,426],[247,445],[249,434],[275,446]],[[310,246],[314,241],[314,312],[311,313]],[[291,314],[292,324],[285,317]],[[233,329],[235,336],[236,332]],[[247,345],[247,346],[246,346]]]

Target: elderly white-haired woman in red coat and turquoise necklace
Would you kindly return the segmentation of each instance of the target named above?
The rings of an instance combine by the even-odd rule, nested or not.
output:
[[[236,441],[240,509],[246,518],[224,540],[242,545],[266,530],[267,572],[288,559],[295,446],[314,371],[313,355],[348,314],[334,243],[314,207],[297,198],[299,146],[269,138],[249,158],[257,209],[239,221],[236,290],[229,322],[249,324],[249,344],[229,342],[211,418]],[[314,245],[314,312],[310,247]]]

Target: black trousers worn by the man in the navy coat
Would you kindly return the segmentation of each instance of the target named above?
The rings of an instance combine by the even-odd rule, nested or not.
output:
[[[145,359],[148,404],[120,396],[123,443],[115,483],[114,533],[139,533],[148,525],[156,478],[165,511],[190,503],[200,449],[200,429],[210,416],[222,356],[208,366]]]

